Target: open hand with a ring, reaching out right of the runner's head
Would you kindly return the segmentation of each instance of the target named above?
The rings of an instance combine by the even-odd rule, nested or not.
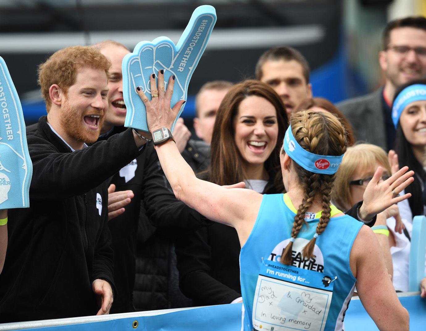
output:
[[[402,190],[414,181],[412,177],[414,171],[407,171],[408,167],[403,167],[386,181],[380,182],[383,168],[377,168],[363,195],[364,201],[360,207],[360,217],[362,219],[370,220],[374,215],[411,196],[411,193],[398,196]]]

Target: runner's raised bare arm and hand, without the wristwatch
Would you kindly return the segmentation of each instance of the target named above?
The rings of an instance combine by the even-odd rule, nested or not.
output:
[[[151,76],[150,79],[151,86],[156,86],[155,78]],[[173,109],[170,108],[174,82],[172,76],[167,91],[164,91],[164,75],[159,72],[158,91],[152,91],[158,97],[153,97],[151,101],[140,88],[138,90],[147,108],[147,122],[151,133],[161,127],[170,128],[184,103],[181,100]],[[226,189],[196,178],[171,140],[156,146],[156,151],[176,198],[213,221],[234,226],[239,232],[240,243],[245,242],[244,238],[248,238],[256,221],[262,195],[252,190]]]

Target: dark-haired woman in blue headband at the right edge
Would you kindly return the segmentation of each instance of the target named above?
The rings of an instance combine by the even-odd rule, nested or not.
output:
[[[400,168],[414,170],[414,182],[406,188],[412,216],[425,215],[426,181],[426,80],[402,85],[395,93],[392,121],[397,130],[396,152]]]

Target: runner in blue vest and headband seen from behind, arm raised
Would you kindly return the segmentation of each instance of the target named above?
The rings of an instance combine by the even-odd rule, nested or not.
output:
[[[162,79],[159,76],[159,86]],[[176,144],[158,134],[170,128],[182,105],[170,109],[172,89],[170,79],[167,91],[158,88],[158,97],[151,101],[139,91],[148,127],[176,197],[238,233],[244,330],[341,330],[355,283],[380,330],[408,330],[408,312],[377,254],[374,233],[330,205],[347,145],[340,122],[328,113],[293,115],[280,153],[288,193],[227,189],[196,178]],[[402,191],[413,175],[407,170],[392,175],[386,190]],[[379,171],[372,181],[378,183],[380,177]],[[403,198],[394,197],[394,203]]]

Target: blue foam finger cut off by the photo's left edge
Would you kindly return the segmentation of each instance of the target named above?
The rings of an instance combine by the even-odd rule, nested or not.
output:
[[[32,162],[21,103],[0,57],[0,209],[29,207]]]

